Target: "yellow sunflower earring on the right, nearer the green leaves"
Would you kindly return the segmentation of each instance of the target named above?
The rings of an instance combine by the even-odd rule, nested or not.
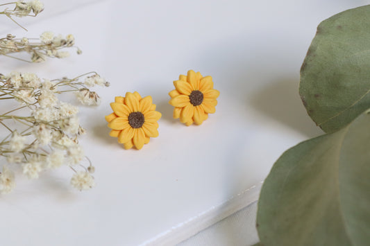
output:
[[[201,125],[208,114],[216,112],[219,91],[213,89],[211,76],[190,70],[187,76],[180,75],[174,86],[176,89],[169,92],[169,104],[175,107],[174,118],[180,118],[185,125]]]

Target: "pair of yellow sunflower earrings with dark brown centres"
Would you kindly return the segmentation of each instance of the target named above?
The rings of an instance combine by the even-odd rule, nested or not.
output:
[[[187,76],[180,75],[174,81],[175,89],[169,92],[169,104],[174,106],[174,118],[189,126],[201,125],[208,114],[216,112],[219,91],[213,89],[211,76],[190,70]],[[111,137],[117,137],[124,148],[135,146],[138,150],[149,143],[151,137],[158,137],[158,123],[162,114],[155,111],[151,96],[142,98],[137,91],[116,96],[115,103],[110,103],[113,113],[106,116]]]

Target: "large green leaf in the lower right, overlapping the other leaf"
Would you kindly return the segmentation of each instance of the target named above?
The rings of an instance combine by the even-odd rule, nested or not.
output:
[[[370,114],[287,150],[260,193],[262,245],[370,245]]]

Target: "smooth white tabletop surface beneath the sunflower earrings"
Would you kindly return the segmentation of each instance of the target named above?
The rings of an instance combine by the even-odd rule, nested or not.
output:
[[[283,151],[321,134],[298,96],[317,25],[367,1],[44,3],[40,17],[19,21],[28,33],[1,17],[1,35],[72,33],[83,55],[44,64],[0,58],[0,72],[60,78],[97,71],[111,82],[99,89],[99,107],[80,112],[96,187],[74,191],[67,167],[36,181],[19,177],[0,198],[1,245],[174,244],[196,233],[179,233],[184,225],[200,221],[199,229],[207,214],[222,218],[247,206],[256,199],[249,189],[260,187]],[[221,95],[216,114],[186,127],[167,102],[172,81],[189,69],[212,76]],[[160,136],[142,150],[124,150],[108,136],[109,103],[126,91],[151,95],[162,112]]]

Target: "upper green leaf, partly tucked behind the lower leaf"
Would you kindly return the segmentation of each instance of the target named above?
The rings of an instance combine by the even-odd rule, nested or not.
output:
[[[301,67],[299,94],[325,132],[370,107],[370,6],[321,22]]]

